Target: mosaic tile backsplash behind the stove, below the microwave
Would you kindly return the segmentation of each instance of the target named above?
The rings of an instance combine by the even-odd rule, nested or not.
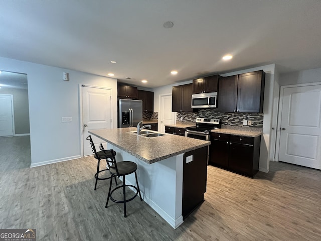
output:
[[[243,126],[243,119],[251,120],[251,127],[263,127],[263,113],[225,113],[219,112],[217,109],[204,108],[198,112],[178,112],[177,121],[195,122],[197,117],[201,118],[219,118],[222,125]]]

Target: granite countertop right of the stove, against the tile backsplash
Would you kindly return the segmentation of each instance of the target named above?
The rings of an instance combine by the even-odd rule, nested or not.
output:
[[[211,132],[244,136],[244,137],[258,137],[262,135],[261,128],[234,127],[234,126],[223,126],[223,125],[221,129],[212,130]]]

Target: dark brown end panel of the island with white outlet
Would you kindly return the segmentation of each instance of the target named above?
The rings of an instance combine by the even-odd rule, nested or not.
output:
[[[187,158],[190,156],[192,156],[192,161]],[[206,180],[207,147],[186,152],[183,157],[183,218],[203,203]]]

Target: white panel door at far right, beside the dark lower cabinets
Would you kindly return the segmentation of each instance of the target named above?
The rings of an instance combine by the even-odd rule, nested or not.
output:
[[[321,85],[284,87],[279,161],[321,169]]]

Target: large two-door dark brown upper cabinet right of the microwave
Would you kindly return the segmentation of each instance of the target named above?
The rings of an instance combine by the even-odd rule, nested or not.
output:
[[[220,77],[218,111],[263,112],[265,73],[262,70]]]

